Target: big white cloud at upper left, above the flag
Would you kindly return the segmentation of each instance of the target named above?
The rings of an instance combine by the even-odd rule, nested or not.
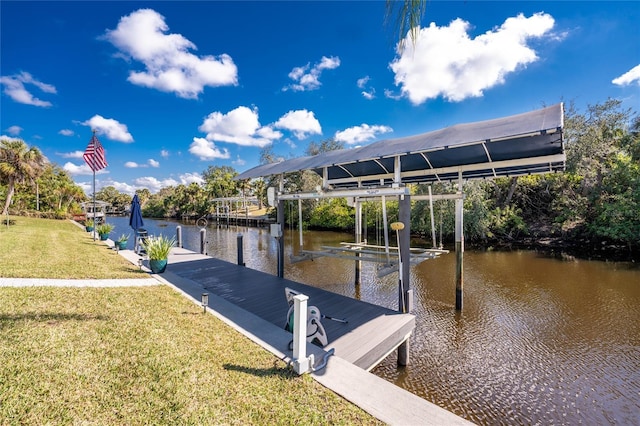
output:
[[[164,16],[152,9],[140,9],[120,19],[104,38],[126,58],[142,62],[144,71],[130,71],[128,80],[145,86],[174,92],[181,98],[196,99],[205,86],[238,84],[238,69],[233,59],[196,56],[196,46],[181,34],[167,34]]]

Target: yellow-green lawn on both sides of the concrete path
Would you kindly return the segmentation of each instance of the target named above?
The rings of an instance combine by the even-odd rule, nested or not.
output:
[[[22,243],[13,256],[27,258],[55,252],[32,239],[73,236],[112,263],[116,272],[109,276],[107,264],[101,278],[126,271],[72,224],[15,219],[16,228],[40,231],[0,231],[0,252],[16,233]],[[83,275],[84,258],[64,253],[84,264],[57,260],[81,275],[67,278],[94,277]],[[6,259],[17,273],[13,257],[1,256],[0,276]],[[0,424],[379,423],[169,286],[0,288]]]

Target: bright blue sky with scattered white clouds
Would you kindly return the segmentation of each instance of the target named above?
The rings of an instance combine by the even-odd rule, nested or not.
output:
[[[415,44],[377,2],[0,2],[0,134],[91,191],[242,172],[561,101],[640,108],[639,2],[429,1]]]

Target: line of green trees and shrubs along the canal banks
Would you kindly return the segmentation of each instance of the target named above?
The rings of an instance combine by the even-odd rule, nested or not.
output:
[[[613,253],[637,258],[640,251],[640,117],[624,109],[621,101],[608,99],[580,112],[573,103],[565,111],[564,143],[567,167],[563,173],[471,181],[465,184],[465,240],[480,246],[536,246],[581,249],[602,257]],[[311,142],[307,155],[344,148],[334,139]],[[261,152],[261,163],[282,160],[271,147]],[[228,166],[209,166],[202,183],[166,187],[157,193],[136,191],[143,215],[156,218],[196,218],[215,212],[214,198],[255,196],[267,202],[269,186],[280,185],[279,176],[238,181]],[[322,182],[310,171],[290,173],[283,185],[288,192],[313,191]],[[425,193],[425,185],[411,186]],[[434,193],[455,192],[452,184],[433,185]],[[88,200],[70,176],[51,164],[37,148],[22,141],[0,143],[0,197],[4,211],[66,217]],[[96,198],[124,212],[131,196],[113,186],[102,188]],[[274,214],[272,211],[271,214]],[[389,222],[397,218],[397,203],[387,203]],[[411,229],[431,238],[428,202],[414,202]],[[378,232],[380,203],[365,203],[367,230]],[[434,203],[438,239],[452,241],[453,201]],[[344,199],[304,200],[303,226],[313,229],[352,230],[355,212]],[[297,202],[287,204],[285,220],[297,226]]]

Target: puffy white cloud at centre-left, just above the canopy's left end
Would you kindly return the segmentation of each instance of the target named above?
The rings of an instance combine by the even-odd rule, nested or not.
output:
[[[240,106],[226,114],[218,111],[212,112],[205,118],[198,130],[207,134],[208,141],[260,148],[282,137],[280,132],[274,131],[271,127],[262,127],[258,120],[258,111],[245,106]],[[196,139],[198,138],[194,138],[194,143],[196,143]],[[191,144],[192,147],[194,143]],[[203,144],[203,142],[198,143]],[[189,151],[191,152],[191,149]]]

